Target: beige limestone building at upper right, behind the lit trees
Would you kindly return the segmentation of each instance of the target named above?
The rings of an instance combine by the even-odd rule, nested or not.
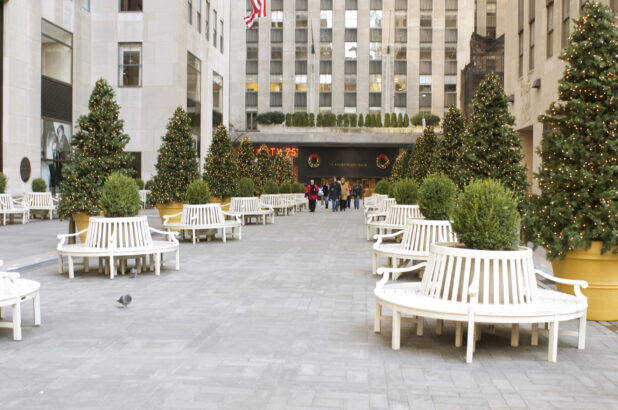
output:
[[[599,0],[618,10],[617,0]],[[558,97],[565,65],[558,59],[569,41],[573,19],[582,0],[513,0],[506,2],[504,88],[512,100],[511,113],[522,136],[528,178],[540,165],[536,148],[543,138],[537,120]],[[533,191],[537,192],[536,182]]]

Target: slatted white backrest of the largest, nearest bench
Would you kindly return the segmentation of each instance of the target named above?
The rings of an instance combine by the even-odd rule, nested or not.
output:
[[[483,251],[457,244],[432,244],[421,293],[425,296],[470,303],[469,289],[481,305],[527,305],[536,300],[532,250]]]

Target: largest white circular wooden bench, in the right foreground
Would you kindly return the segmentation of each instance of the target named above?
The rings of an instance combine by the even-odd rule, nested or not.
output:
[[[425,267],[421,282],[387,283],[393,272]],[[449,244],[432,244],[429,259],[406,268],[380,268],[383,274],[374,291],[376,310],[374,331],[380,332],[381,319],[392,319],[392,348],[400,345],[401,314],[416,316],[417,334],[423,333],[423,318],[437,319],[436,332],[442,333],[443,320],[456,322],[455,345],[462,344],[462,323],[468,324],[466,362],[472,362],[479,324],[512,324],[511,345],[519,344],[519,325],[532,324],[531,344],[538,344],[539,323],[549,324],[548,361],[555,362],[558,326],[561,321],[579,320],[578,348],[585,347],[588,303],[580,288],[584,281],[560,279],[534,268],[532,250],[483,251]],[[539,289],[536,275],[572,285],[574,295]],[[382,315],[382,307],[392,316]]]

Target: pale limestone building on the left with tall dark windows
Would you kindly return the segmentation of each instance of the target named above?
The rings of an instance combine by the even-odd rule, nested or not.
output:
[[[2,2],[0,170],[7,190],[60,180],[78,117],[99,78],[114,88],[134,167],[154,172],[177,106],[193,119],[199,156],[229,116],[227,0],[9,0]]]

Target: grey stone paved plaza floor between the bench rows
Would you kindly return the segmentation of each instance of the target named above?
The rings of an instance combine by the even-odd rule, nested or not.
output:
[[[44,261],[66,231],[0,227],[0,258]],[[180,271],[160,277],[20,269],[41,282],[43,325],[26,305],[21,342],[0,330],[0,408],[618,408],[618,334],[601,323],[586,350],[561,337],[555,364],[529,327],[518,348],[507,327],[484,334],[469,365],[452,324],[436,336],[427,320],[423,337],[404,325],[391,350],[390,325],[373,332],[370,249],[360,211],[318,206],[246,226],[242,241],[185,242]]]

